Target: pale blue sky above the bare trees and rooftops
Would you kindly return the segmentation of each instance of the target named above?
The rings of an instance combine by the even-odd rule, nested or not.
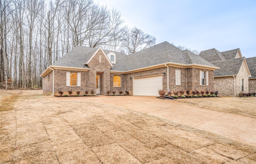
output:
[[[94,0],[115,8],[124,25],[199,52],[240,48],[256,57],[256,0]]]

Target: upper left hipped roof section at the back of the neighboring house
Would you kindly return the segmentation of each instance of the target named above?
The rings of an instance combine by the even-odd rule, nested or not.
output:
[[[204,58],[208,62],[225,60],[225,57],[222,55],[222,53],[216,49],[209,49],[206,51],[201,51],[199,56]]]

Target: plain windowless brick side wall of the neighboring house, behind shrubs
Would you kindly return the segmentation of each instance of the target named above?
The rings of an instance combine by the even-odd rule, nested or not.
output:
[[[234,96],[234,77],[214,78],[214,89],[218,96]]]

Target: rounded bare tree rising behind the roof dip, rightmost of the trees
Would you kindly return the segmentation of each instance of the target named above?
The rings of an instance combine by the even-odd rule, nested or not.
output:
[[[142,49],[148,48],[156,43],[156,38],[152,35],[144,33],[136,27],[126,29],[124,31],[124,39],[122,39],[123,53],[132,54]]]

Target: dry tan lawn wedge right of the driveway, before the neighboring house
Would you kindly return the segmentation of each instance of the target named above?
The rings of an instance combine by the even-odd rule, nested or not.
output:
[[[189,105],[256,118],[256,97],[188,98],[175,101]]]

